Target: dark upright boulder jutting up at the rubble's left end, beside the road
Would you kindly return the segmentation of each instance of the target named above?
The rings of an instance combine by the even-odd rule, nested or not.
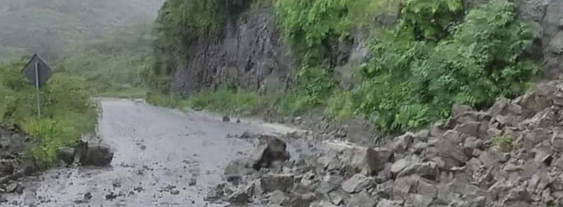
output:
[[[258,147],[251,155],[254,169],[270,168],[276,161],[289,159],[289,153],[285,151],[287,145],[277,137],[261,135],[258,137],[258,141]]]

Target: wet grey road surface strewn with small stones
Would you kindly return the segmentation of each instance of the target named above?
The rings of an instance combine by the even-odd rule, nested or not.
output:
[[[203,201],[208,187],[222,182],[226,164],[253,149],[227,135],[291,131],[138,101],[100,102],[98,134],[114,149],[111,167],[53,168],[25,178],[24,193],[6,195],[1,206],[216,206]]]

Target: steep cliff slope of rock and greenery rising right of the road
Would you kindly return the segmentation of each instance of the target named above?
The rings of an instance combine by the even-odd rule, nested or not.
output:
[[[402,132],[560,73],[561,10],[524,0],[169,0],[153,80],[182,96],[251,89],[274,114],[323,107],[330,120]]]

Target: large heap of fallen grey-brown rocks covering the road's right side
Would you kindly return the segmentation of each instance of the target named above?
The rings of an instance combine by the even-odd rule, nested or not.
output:
[[[556,80],[487,111],[454,106],[444,123],[381,147],[341,145],[287,161],[285,143],[269,137],[252,158],[227,167],[236,182],[213,198],[292,207],[563,206],[562,107]]]

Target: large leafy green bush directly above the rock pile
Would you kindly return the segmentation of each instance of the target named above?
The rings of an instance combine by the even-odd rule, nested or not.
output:
[[[506,0],[470,11],[437,42],[440,35],[419,39],[435,33],[405,33],[403,26],[372,43],[363,69],[359,111],[382,131],[423,127],[448,116],[453,104],[482,109],[498,96],[521,95],[538,72],[524,56],[533,37]]]

